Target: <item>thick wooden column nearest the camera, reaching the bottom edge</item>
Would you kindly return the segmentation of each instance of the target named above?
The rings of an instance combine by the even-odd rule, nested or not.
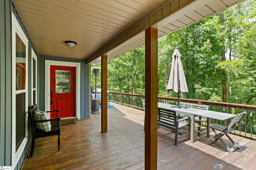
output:
[[[145,31],[145,170],[157,169],[157,29]]]

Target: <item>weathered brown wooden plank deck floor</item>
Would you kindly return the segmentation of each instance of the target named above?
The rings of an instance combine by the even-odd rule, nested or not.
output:
[[[144,169],[144,111],[111,105],[118,108],[108,109],[108,133],[101,133],[100,113],[61,125],[60,151],[57,137],[36,139],[33,157],[27,156],[22,170]],[[195,143],[184,139],[178,146],[173,135],[158,129],[158,170],[256,169],[256,141],[232,135],[241,150],[230,154],[220,142],[206,145],[205,131]]]

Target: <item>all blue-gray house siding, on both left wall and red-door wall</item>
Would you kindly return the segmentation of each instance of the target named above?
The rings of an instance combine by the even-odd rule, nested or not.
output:
[[[20,16],[12,3],[12,0],[0,0],[0,166],[12,165],[12,32],[11,32],[11,12],[14,13],[18,23],[28,38],[28,105],[31,104],[31,48],[36,49],[20,19]],[[37,55],[37,53],[36,53]],[[64,57],[50,57],[39,56],[38,57],[38,102],[39,106],[44,107],[44,83],[41,83],[44,78],[44,60],[56,60],[56,61],[70,61],[81,63],[81,118],[89,117],[88,113],[88,65],[85,60],[69,59]],[[41,86],[43,85],[43,86]],[[29,107],[29,106],[27,106]],[[30,133],[29,133],[30,134]],[[20,170],[22,164],[26,158],[31,139],[28,139],[28,143],[19,159],[16,167],[12,169]]]

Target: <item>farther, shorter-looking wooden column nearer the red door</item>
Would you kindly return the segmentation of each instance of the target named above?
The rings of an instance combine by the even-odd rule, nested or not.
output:
[[[101,133],[108,132],[108,56],[101,56]]]

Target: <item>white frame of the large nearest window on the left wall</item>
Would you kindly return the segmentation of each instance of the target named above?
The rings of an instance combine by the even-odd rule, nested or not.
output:
[[[16,33],[26,46],[25,90],[16,91]],[[28,39],[12,12],[12,167],[16,167],[28,142],[28,108],[26,108],[26,135],[16,152],[16,94],[25,92],[25,105],[28,106]]]

